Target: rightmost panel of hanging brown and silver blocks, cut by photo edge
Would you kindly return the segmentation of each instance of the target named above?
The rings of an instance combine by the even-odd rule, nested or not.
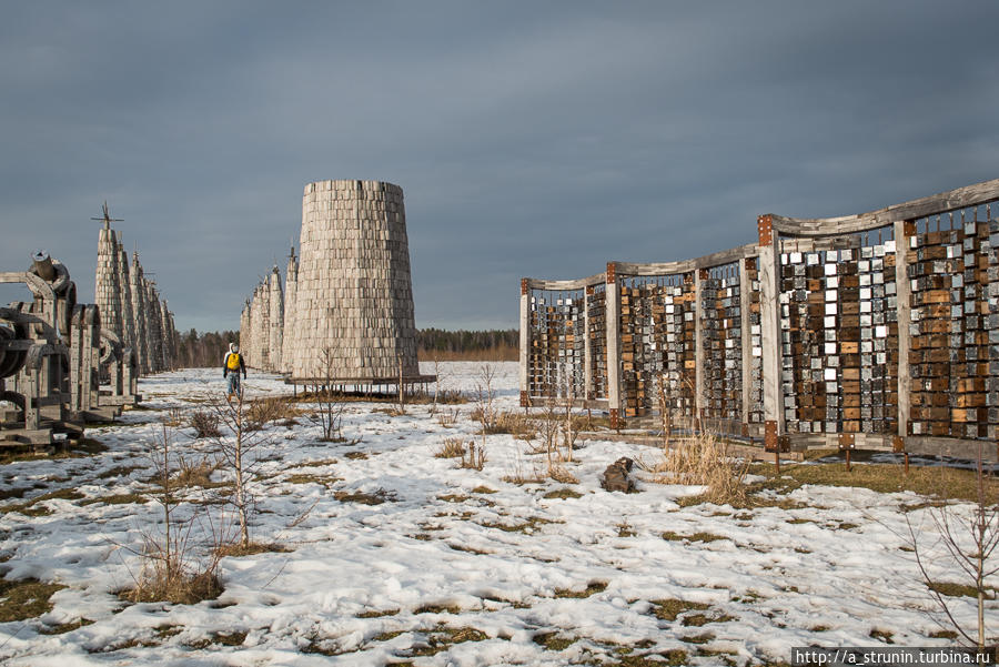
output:
[[[907,230],[911,287],[911,435],[996,439],[999,317],[991,209],[919,220]]]

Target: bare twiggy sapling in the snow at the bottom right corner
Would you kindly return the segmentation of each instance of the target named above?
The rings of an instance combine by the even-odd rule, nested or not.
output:
[[[978,465],[976,468],[977,498],[970,512],[967,505],[942,504],[927,509],[936,536],[928,538],[928,532],[917,530],[906,515],[908,546],[916,557],[922,583],[942,612],[946,623],[968,646],[985,650],[999,637],[988,636],[986,626],[986,600],[997,596],[996,578],[999,575],[999,493],[989,491],[982,465],[982,443],[978,443]],[[995,489],[995,486],[991,487]],[[975,626],[958,619],[956,603],[949,602],[930,568],[945,568],[948,576],[958,575],[958,582],[977,598],[977,621]],[[960,598],[958,598],[960,599]]]

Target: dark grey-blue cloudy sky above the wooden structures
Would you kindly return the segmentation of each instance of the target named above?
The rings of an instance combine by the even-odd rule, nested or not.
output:
[[[999,178],[999,2],[8,2],[0,271],[93,300],[108,201],[178,329],[233,330],[306,183],[405,194],[416,324],[519,279]],[[0,302],[28,296],[0,286]]]

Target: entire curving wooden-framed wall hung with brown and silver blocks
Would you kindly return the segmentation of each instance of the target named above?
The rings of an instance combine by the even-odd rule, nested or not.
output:
[[[521,284],[521,400],[664,407],[768,447],[973,455],[999,437],[999,180],[756,243]]]

